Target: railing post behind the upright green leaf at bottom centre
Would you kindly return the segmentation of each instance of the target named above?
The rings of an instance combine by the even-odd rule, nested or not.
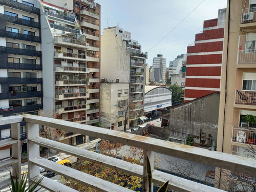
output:
[[[154,184],[152,183],[152,187],[151,187],[151,191],[148,191],[148,179],[147,179],[147,157],[150,160],[150,164],[151,164],[151,171],[153,173],[154,171],[154,152],[152,151],[147,151],[147,150],[143,150],[144,153],[144,157],[143,157],[143,192],[153,192],[153,186]]]

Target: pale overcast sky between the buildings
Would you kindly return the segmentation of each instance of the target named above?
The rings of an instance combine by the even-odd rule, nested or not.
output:
[[[227,0],[204,0],[176,29],[181,20],[203,0],[95,0],[101,5],[101,35],[103,29],[119,25],[138,40],[142,52],[148,53],[146,62],[152,65],[158,53],[166,58],[166,66],[177,55],[186,53],[187,45],[203,29],[203,21],[218,17],[218,10],[226,8]],[[170,33],[169,33],[170,32]],[[156,47],[157,42],[166,36]],[[150,50],[150,51],[149,51]]]

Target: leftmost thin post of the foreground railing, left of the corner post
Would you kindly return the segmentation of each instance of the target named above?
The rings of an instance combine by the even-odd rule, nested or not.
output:
[[[11,124],[11,133],[12,138],[18,140],[17,143],[12,144],[12,157],[18,159],[18,163],[12,165],[12,175],[15,177],[17,174],[17,178],[20,181],[21,172],[21,155],[20,155],[20,124],[12,123]]]

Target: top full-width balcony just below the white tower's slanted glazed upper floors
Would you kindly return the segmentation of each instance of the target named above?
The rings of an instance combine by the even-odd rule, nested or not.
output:
[[[64,46],[71,46],[71,47],[76,47],[76,48],[79,48],[79,49],[89,48],[89,44],[87,44],[86,41],[73,39],[73,38],[69,38],[69,37],[55,36],[54,37],[54,44],[64,45]]]

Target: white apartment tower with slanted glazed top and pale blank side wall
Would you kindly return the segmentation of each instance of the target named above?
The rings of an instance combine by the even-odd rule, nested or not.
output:
[[[44,111],[53,110],[63,120],[90,124],[86,36],[71,10],[44,1],[41,4]],[[89,137],[69,132],[58,140],[77,145]]]

